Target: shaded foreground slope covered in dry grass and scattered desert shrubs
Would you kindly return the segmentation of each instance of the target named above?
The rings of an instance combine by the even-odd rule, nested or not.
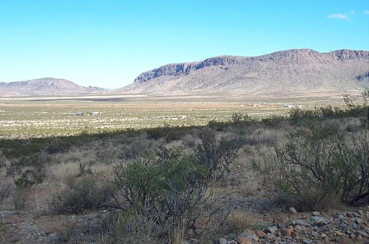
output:
[[[369,196],[368,107],[346,100],[263,120],[235,111],[207,125],[2,139],[1,206],[78,220],[56,237],[76,244],[215,243],[291,206],[351,208]]]

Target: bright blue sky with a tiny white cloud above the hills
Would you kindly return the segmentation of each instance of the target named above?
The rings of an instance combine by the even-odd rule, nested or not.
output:
[[[0,0],[0,82],[119,88],[163,64],[369,50],[367,0]]]

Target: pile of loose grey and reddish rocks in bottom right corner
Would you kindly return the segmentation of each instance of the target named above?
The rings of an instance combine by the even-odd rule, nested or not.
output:
[[[236,240],[220,238],[219,244],[369,243],[369,208],[334,215],[299,215],[294,208],[290,212],[291,216],[275,218],[267,229],[246,229]]]

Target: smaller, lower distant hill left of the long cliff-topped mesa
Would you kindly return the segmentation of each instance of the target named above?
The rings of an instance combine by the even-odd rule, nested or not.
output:
[[[83,87],[71,81],[41,78],[28,81],[0,82],[0,96],[75,95],[105,91],[98,87]]]

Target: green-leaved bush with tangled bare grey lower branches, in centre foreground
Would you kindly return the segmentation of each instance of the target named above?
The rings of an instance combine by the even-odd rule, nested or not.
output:
[[[119,164],[114,171],[119,195],[125,199],[120,208],[154,219],[164,236],[184,219],[186,230],[194,227],[194,210],[207,198],[205,165],[184,156],[182,149],[161,147],[155,157]]]

